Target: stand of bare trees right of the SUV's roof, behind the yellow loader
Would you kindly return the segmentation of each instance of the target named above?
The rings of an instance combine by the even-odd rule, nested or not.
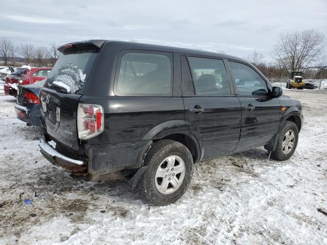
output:
[[[304,71],[305,78],[327,77],[325,36],[317,30],[279,34],[270,55],[273,61],[268,63],[256,51],[247,60],[267,78],[288,77],[292,70]]]

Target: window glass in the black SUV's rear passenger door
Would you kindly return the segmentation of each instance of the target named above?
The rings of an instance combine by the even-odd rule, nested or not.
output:
[[[222,60],[189,57],[196,94],[230,95],[227,72]]]

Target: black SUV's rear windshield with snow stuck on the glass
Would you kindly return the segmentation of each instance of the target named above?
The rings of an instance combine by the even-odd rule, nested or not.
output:
[[[60,55],[46,82],[56,90],[78,93],[86,84],[98,49],[83,49]]]

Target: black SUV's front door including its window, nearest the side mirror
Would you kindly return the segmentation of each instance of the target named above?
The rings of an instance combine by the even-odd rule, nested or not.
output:
[[[236,61],[228,64],[242,105],[241,135],[236,151],[264,145],[278,130],[279,100],[270,95],[266,81],[251,66]]]

